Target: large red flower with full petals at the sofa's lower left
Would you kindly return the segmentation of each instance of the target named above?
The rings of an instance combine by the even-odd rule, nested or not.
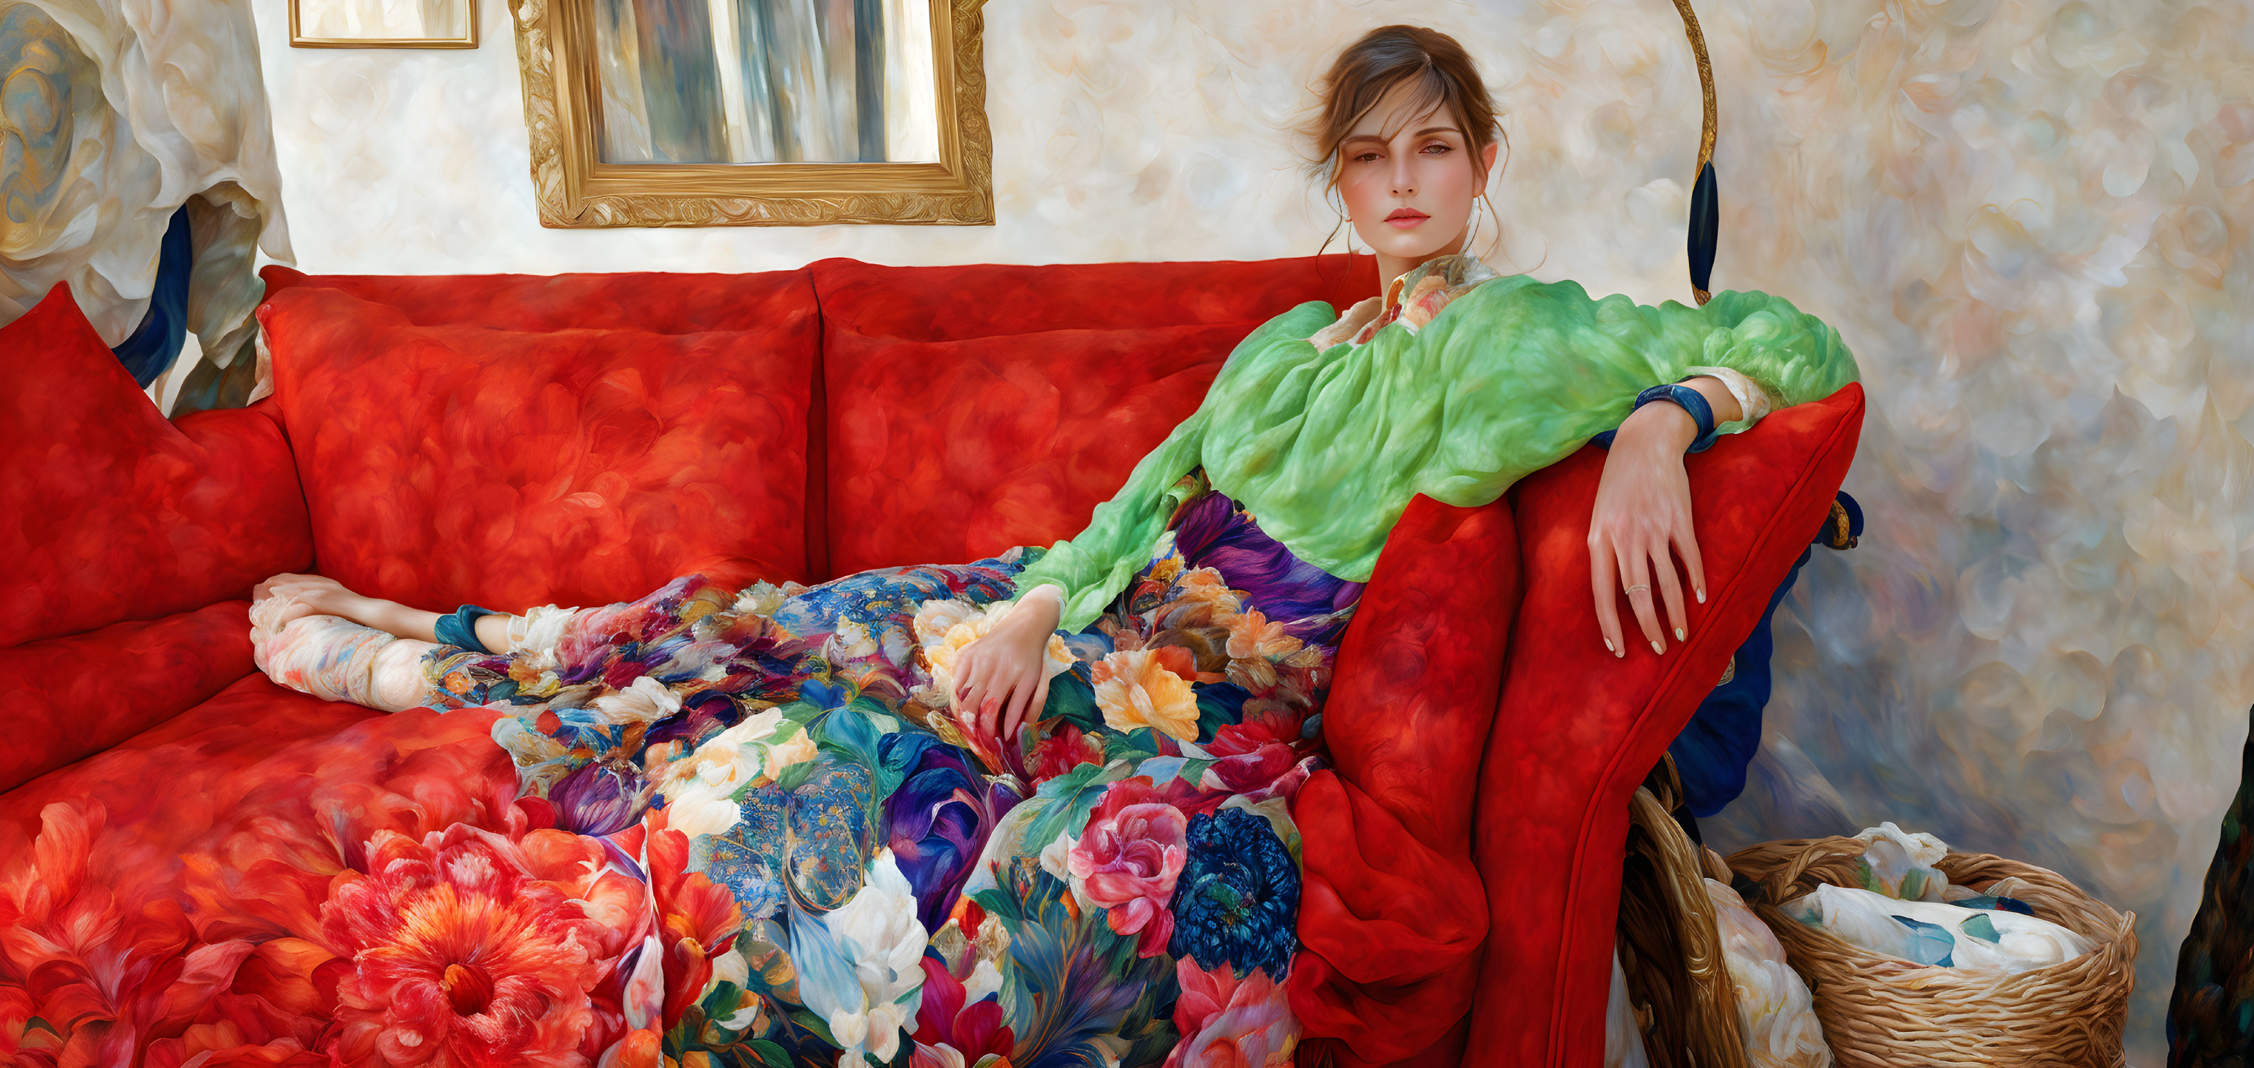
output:
[[[376,831],[367,874],[320,908],[329,946],[354,964],[338,985],[340,1052],[399,1068],[588,1063],[615,1030],[591,994],[633,933],[588,917],[624,888],[573,885],[575,874],[600,883],[577,865],[582,843],[600,854],[545,829],[525,843],[464,825],[419,843]],[[582,906],[573,890],[595,899]]]

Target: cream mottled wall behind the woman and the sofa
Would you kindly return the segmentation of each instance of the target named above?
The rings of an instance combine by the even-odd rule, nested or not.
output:
[[[1769,739],[1715,836],[1891,818],[2071,874],[2139,915],[2132,1054],[2157,1066],[2254,701],[2247,7],[1700,9],[1715,286],[1835,322],[1871,390],[1871,534],[1778,615]],[[1697,83],[1666,0],[994,0],[994,228],[541,230],[505,5],[480,20],[476,52],[311,52],[257,0],[304,268],[1303,255],[1330,216],[1285,126],[1339,45],[1416,20],[1508,108],[1497,266],[1688,295]]]

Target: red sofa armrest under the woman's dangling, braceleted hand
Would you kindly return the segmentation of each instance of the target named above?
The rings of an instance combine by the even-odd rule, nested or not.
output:
[[[1668,656],[1616,660],[1598,635],[1587,539],[1603,453],[1517,487],[1528,626],[1510,640],[1481,768],[1476,856],[1494,922],[1465,1063],[1603,1063],[1627,798],[1830,511],[1862,403],[1848,385],[1690,457],[1709,604],[1690,606],[1690,640]]]

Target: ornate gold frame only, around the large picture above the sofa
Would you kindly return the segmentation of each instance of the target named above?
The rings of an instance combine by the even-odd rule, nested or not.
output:
[[[994,225],[983,0],[929,0],[938,162],[604,162],[591,0],[509,0],[545,228]]]

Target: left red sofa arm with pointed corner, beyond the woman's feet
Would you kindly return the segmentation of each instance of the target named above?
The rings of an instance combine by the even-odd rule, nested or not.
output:
[[[0,647],[196,611],[311,559],[273,408],[167,421],[63,284],[0,354]]]

